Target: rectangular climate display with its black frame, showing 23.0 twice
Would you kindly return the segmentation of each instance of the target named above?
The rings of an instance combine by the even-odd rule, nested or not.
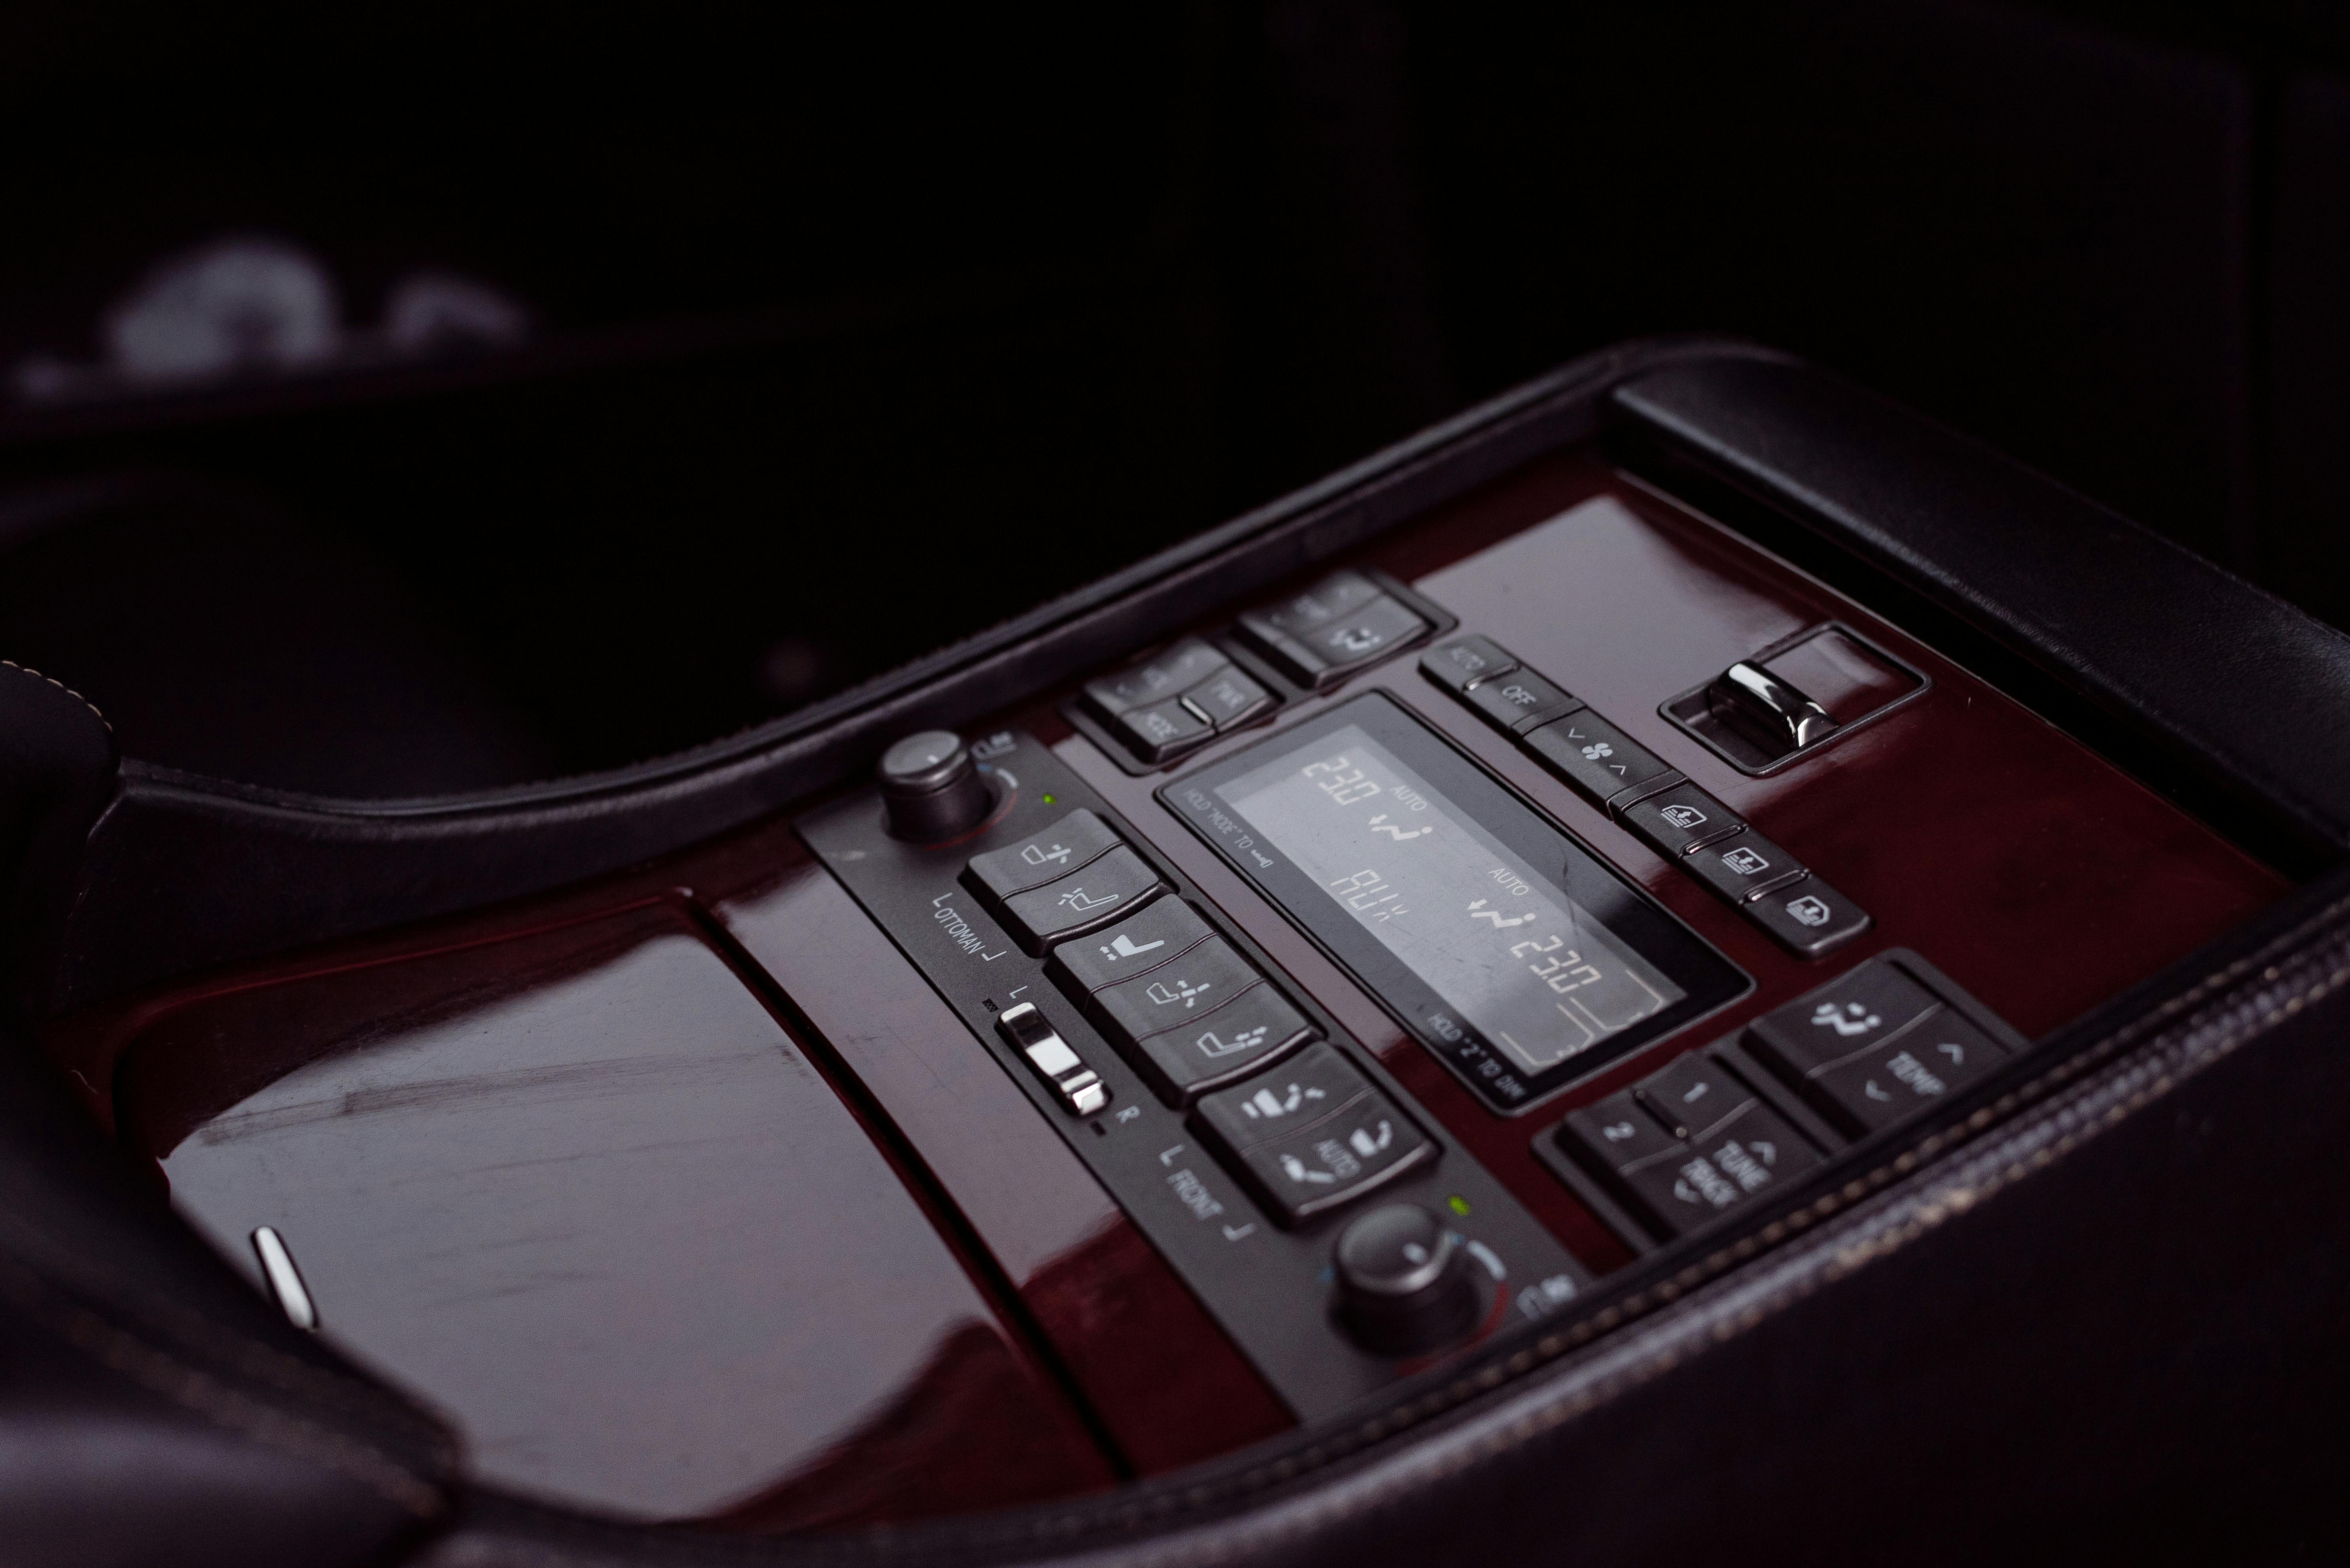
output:
[[[1386,697],[1163,791],[1497,1110],[1746,976]]]

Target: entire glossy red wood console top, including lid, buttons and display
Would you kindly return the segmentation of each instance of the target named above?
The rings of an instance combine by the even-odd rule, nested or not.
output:
[[[2291,892],[1777,545],[1535,444],[1201,573],[1147,641],[907,699],[747,826],[49,1049],[254,1289],[496,1408],[522,1495],[806,1528],[1375,1432],[2012,1115],[2035,1042]],[[689,1336],[649,1305],[682,1284]],[[602,1350],[498,1305],[557,1296]],[[872,1376],[808,1380],[827,1345]],[[613,1479],[517,1392],[559,1378],[564,1430],[658,1404],[733,1469]]]

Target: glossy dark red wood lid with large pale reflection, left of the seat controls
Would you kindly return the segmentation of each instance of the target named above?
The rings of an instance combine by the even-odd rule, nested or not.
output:
[[[750,1523],[1109,1479],[679,906],[357,976],[153,1021],[122,1134],[223,1253],[275,1225],[324,1329],[449,1411],[486,1481]],[[844,1455],[858,1486],[818,1498]]]

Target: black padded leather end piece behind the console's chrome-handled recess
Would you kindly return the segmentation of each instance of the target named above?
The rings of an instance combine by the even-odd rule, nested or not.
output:
[[[2326,857],[2350,845],[2350,638],[2334,627],[1817,366],[1659,366],[1610,404],[1633,467],[1727,484],[2240,807]]]

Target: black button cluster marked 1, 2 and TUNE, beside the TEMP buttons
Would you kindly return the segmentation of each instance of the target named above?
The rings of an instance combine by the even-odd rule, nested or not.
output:
[[[1786,1117],[1704,1052],[1570,1113],[1556,1136],[1659,1239],[1821,1164]]]

